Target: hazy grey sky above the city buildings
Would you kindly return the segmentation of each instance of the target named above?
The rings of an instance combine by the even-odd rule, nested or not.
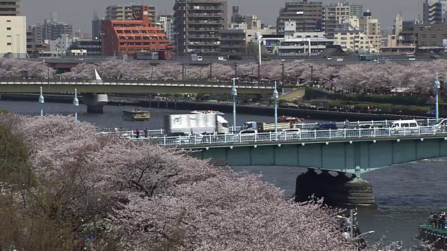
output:
[[[284,7],[286,1],[295,0],[228,0],[228,12],[231,12],[231,6],[240,6],[239,11],[243,15],[257,15],[261,22],[275,25],[279,8]],[[379,18],[382,29],[393,26],[393,18],[399,12],[404,20],[417,18],[418,12],[422,17],[422,2],[423,0],[351,0],[353,4],[362,4],[374,17]],[[103,17],[107,6],[130,3],[156,6],[157,14],[171,14],[175,0],[22,0],[21,5],[29,25],[43,23],[43,20],[49,20],[51,13],[55,12],[59,22],[73,24],[83,32],[91,33],[94,11],[99,17]]]

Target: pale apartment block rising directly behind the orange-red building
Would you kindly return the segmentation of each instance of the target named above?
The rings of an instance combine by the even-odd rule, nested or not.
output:
[[[152,26],[156,22],[155,6],[119,5],[105,9],[106,20],[142,20],[143,15],[149,17]]]

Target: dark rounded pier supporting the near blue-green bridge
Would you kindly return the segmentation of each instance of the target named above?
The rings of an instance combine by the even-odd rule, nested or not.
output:
[[[329,172],[327,170],[307,169],[296,179],[295,201],[309,201],[314,195],[317,199],[323,197],[329,206],[342,208],[376,207],[372,185],[356,175]]]

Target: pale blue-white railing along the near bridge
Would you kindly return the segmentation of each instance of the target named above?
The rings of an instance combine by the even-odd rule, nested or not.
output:
[[[300,132],[263,132],[263,133],[238,133],[223,135],[188,135],[180,137],[152,137],[130,135],[123,136],[124,139],[147,141],[152,144],[163,146],[182,146],[197,144],[233,144],[274,141],[303,141],[315,139],[353,139],[353,138],[380,138],[400,137],[409,135],[446,135],[447,128],[435,126],[420,126],[418,128],[372,128],[372,129],[338,129],[338,130],[302,130]]]

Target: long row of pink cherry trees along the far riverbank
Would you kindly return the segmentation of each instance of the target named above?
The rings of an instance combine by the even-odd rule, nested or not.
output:
[[[240,81],[284,80],[285,83],[307,81],[312,78],[320,84],[330,84],[339,89],[376,89],[380,87],[407,88],[410,91],[432,89],[435,73],[439,79],[447,79],[447,60],[414,61],[406,64],[393,62],[362,62],[346,66],[328,66],[309,61],[265,61],[257,63],[221,64],[193,66],[187,63],[166,61],[158,65],[151,61],[103,61],[101,63],[80,63],[71,71],[54,76],[54,70],[37,61],[6,59],[0,62],[0,77],[3,78],[45,78],[94,79],[94,69],[103,79],[114,80],[219,80]],[[258,76],[260,79],[258,79]]]

